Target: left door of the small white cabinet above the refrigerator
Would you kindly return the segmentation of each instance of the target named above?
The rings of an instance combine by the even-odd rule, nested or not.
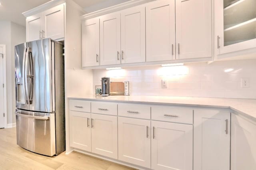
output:
[[[26,18],[26,41],[34,41],[42,38],[42,13]]]

